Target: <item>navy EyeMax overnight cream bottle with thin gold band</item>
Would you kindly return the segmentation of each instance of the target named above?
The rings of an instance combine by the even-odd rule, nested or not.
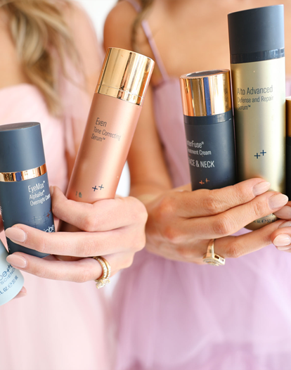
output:
[[[0,126],[0,207],[4,229],[26,224],[46,232],[55,231],[41,127],[37,122]],[[9,253],[46,256],[8,238],[7,243]]]

